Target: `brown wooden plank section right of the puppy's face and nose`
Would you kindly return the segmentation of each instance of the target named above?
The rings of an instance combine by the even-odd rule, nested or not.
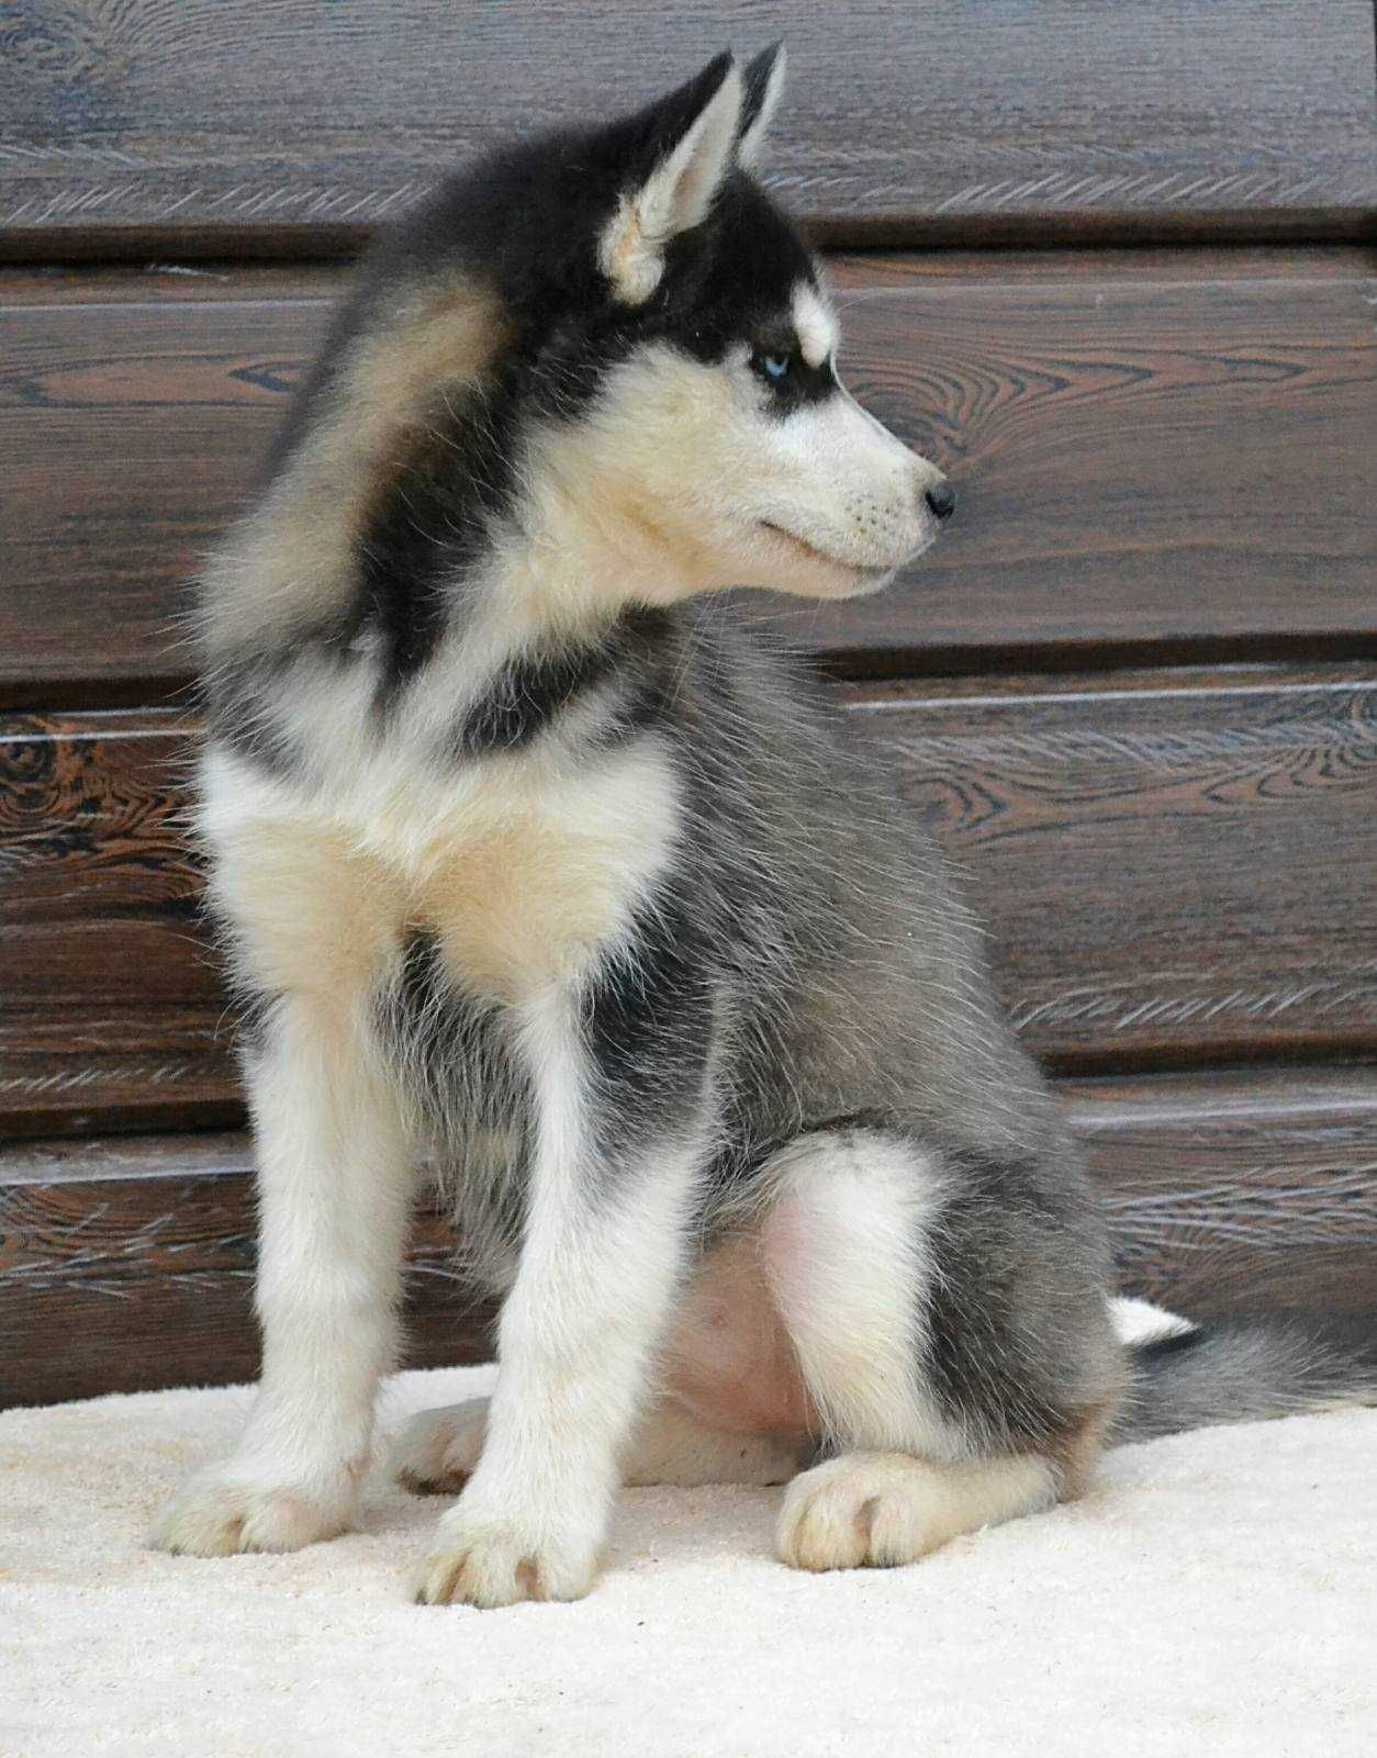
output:
[[[1354,251],[1351,281],[1314,260],[1219,253],[1203,281],[1096,257],[1041,281],[839,265],[851,387],[960,506],[895,589],[791,626],[853,672],[1377,642],[1377,258]]]

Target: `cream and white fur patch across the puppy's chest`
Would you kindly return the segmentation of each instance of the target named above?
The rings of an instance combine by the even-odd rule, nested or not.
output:
[[[677,830],[656,740],[577,763],[503,754],[436,774],[380,749],[306,786],[215,749],[200,830],[241,976],[273,993],[376,986],[429,935],[455,983],[517,1002],[626,932]]]

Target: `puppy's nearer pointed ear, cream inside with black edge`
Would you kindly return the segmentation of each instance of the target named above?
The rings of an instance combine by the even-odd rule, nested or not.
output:
[[[707,218],[732,169],[742,100],[740,69],[719,54],[656,105],[637,181],[598,239],[598,265],[626,304],[651,297],[668,241]]]

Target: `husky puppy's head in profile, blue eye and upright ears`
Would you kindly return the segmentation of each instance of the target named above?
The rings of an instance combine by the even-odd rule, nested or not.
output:
[[[531,455],[663,596],[869,592],[951,512],[839,381],[818,262],[753,176],[783,83],[783,47],[723,54],[579,155],[591,274],[545,336]]]

